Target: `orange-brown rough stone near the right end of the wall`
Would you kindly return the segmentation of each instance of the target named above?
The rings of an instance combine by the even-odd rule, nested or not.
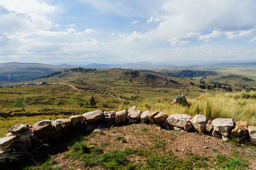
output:
[[[245,136],[248,132],[248,123],[245,120],[239,120],[235,124],[235,128],[232,129],[230,136],[232,138]]]

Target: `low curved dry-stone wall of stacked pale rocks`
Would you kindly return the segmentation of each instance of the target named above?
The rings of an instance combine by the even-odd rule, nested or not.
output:
[[[110,125],[157,124],[161,128],[178,131],[191,131],[211,134],[227,141],[235,138],[239,142],[256,144],[256,127],[248,126],[245,120],[233,122],[231,118],[216,118],[209,120],[204,115],[191,117],[186,114],[173,114],[159,111],[140,111],[132,106],[128,111],[92,111],[83,115],[74,115],[57,120],[42,120],[34,125],[20,124],[10,128],[9,133],[0,138],[0,148],[12,143],[16,150],[31,150],[44,143],[59,142],[81,132],[105,130]]]

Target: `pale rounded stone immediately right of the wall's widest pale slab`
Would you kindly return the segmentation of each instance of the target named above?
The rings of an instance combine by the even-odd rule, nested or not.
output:
[[[195,115],[195,117],[193,117],[190,120],[190,123],[193,125],[193,127],[196,129],[196,131],[198,132],[204,132],[206,129],[206,122],[207,122],[208,118],[205,117],[205,115]]]

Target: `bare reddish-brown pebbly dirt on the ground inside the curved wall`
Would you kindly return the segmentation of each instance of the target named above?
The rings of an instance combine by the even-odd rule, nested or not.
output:
[[[88,136],[86,143],[95,143],[101,146],[104,153],[125,148],[147,150],[152,147],[159,147],[157,152],[161,154],[174,153],[180,159],[186,159],[188,155],[201,155],[216,157],[218,154],[234,157],[238,153],[239,157],[248,160],[248,166],[251,169],[256,167],[256,151],[245,145],[234,146],[231,143],[224,142],[222,139],[214,138],[206,134],[196,134],[195,132],[168,131],[160,129],[154,124],[131,124],[124,126],[115,126]],[[116,139],[117,136],[123,137],[126,143]],[[67,151],[69,152],[69,151]],[[66,152],[64,152],[66,153]],[[83,162],[74,159],[65,159],[63,154],[55,156],[58,164],[63,169],[76,167],[84,169]],[[138,158],[131,157],[130,160],[136,163]],[[100,168],[100,167],[99,167]]]

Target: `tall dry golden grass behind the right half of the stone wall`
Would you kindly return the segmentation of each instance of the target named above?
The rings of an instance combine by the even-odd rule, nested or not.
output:
[[[202,114],[208,118],[232,118],[234,121],[244,119],[250,125],[256,125],[256,92],[204,94],[195,99],[188,99],[189,107],[172,105],[170,101],[141,104],[141,110],[159,110],[172,115],[186,113],[191,116]]]

